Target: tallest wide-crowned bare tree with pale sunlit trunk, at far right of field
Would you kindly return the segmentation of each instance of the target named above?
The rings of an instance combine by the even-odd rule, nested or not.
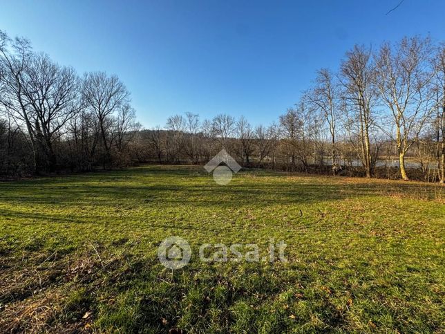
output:
[[[377,87],[395,124],[393,139],[404,180],[408,180],[406,152],[415,143],[432,111],[431,96],[428,94],[428,85],[433,77],[430,52],[429,38],[405,37],[394,49],[385,43],[375,59]]]

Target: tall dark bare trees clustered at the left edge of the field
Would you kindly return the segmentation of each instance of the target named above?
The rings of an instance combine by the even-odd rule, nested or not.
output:
[[[126,147],[140,127],[129,96],[117,76],[80,77],[0,31],[1,173],[128,165]]]

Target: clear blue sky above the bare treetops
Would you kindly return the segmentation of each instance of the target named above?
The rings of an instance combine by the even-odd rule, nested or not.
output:
[[[444,0],[5,1],[0,29],[126,84],[144,127],[218,113],[269,123],[354,44],[445,40]]]

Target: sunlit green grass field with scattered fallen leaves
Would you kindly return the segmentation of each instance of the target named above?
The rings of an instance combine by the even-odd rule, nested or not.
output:
[[[184,166],[0,183],[0,332],[444,333],[442,189]],[[197,256],[271,239],[287,262]]]

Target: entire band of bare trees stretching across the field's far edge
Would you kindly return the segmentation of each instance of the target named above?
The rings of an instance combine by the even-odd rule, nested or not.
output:
[[[429,37],[354,46],[268,125],[184,113],[141,129],[129,96],[115,75],[79,76],[1,33],[0,172],[204,164],[226,149],[245,167],[445,179],[445,46]]]

